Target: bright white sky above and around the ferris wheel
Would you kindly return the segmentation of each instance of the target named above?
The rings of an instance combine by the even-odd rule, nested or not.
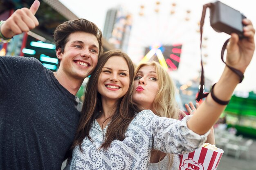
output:
[[[182,44],[180,65],[177,71],[170,72],[172,78],[180,83],[200,76],[200,33],[198,22],[202,14],[203,4],[213,2],[208,0],[159,0],[159,12],[155,13],[156,0],[59,0],[70,11],[80,18],[85,18],[97,24],[103,31],[108,9],[121,5],[132,14],[132,30],[128,50],[132,61],[138,63],[144,56],[144,48],[155,43],[163,45]],[[222,0],[221,2],[243,13],[256,25],[255,5],[252,0]],[[173,3],[176,4],[173,7]],[[144,16],[139,12],[144,6]],[[170,11],[174,10],[173,15]],[[190,13],[187,13],[187,11]],[[188,21],[185,18],[189,18]],[[225,40],[230,36],[217,33],[209,23],[209,9],[204,20],[202,48],[204,75],[213,83],[220,78],[225,64],[220,59],[220,51]],[[256,26],[255,26],[256,27]],[[255,36],[256,37],[256,36]],[[237,92],[256,92],[256,52],[245,72],[245,78],[238,84]]]

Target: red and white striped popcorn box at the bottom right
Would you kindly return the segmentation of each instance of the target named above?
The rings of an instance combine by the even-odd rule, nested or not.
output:
[[[223,154],[223,150],[211,150],[204,147],[192,153],[181,155],[179,170],[216,170]]]

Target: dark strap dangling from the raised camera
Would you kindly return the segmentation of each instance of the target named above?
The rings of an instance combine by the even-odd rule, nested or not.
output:
[[[200,88],[199,88],[199,91],[198,91],[198,96],[196,98],[196,100],[199,102],[200,100],[202,100],[202,98],[205,98],[209,93],[207,92],[204,92],[204,67],[203,67],[203,61],[202,61],[202,33],[203,33],[203,25],[204,25],[204,18],[205,18],[205,13],[206,13],[206,9],[209,7],[212,6],[212,3],[208,3],[208,4],[204,4],[203,5],[203,10],[202,10],[202,17],[201,17],[201,20],[200,20],[200,56],[201,56],[201,68],[202,68],[202,71],[201,71],[201,80],[200,80]],[[227,65],[227,63],[224,61],[224,52],[226,50],[226,47],[227,47],[227,43],[229,42],[229,39],[227,39],[225,41],[225,43],[223,44],[222,46],[222,49],[221,49],[221,60],[223,61],[223,63],[225,63]],[[244,75],[242,72],[240,72],[239,70],[227,65],[227,67],[229,69],[231,69],[233,72],[235,72],[239,78],[240,78],[240,82],[241,83],[243,81],[243,78],[244,78]]]

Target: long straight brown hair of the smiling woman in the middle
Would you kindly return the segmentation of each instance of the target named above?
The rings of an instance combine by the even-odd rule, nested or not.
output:
[[[111,116],[111,122],[108,125],[108,130],[106,132],[106,140],[103,142],[101,148],[108,148],[111,142],[115,139],[122,141],[125,138],[126,129],[132,121],[135,113],[131,97],[133,89],[134,64],[130,57],[121,50],[110,50],[99,57],[97,67],[94,72],[92,72],[87,83],[81,118],[76,130],[72,149],[76,145],[79,145],[79,148],[82,151],[81,144],[85,137],[88,137],[92,141],[92,138],[89,135],[91,124],[96,118],[97,113],[102,111],[101,95],[97,90],[97,84],[103,66],[108,59],[113,56],[123,57],[126,60],[129,68],[130,83],[128,92],[118,101],[117,108],[115,109],[113,116]]]

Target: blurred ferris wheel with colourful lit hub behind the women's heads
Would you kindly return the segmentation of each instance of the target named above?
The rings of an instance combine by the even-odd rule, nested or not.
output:
[[[155,1],[137,8],[127,51],[135,64],[156,60],[166,70],[177,71],[189,67],[195,56],[200,62],[200,53],[195,50],[200,43],[200,16],[195,19],[190,5]],[[207,37],[203,39],[202,52],[204,57],[208,56]]]

